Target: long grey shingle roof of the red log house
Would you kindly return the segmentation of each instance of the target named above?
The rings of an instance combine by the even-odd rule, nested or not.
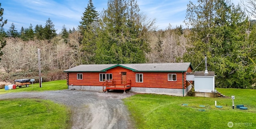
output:
[[[120,66],[134,72],[186,72],[190,63],[150,63],[150,64],[107,64],[107,65],[79,65],[64,72],[105,72],[108,69]]]

